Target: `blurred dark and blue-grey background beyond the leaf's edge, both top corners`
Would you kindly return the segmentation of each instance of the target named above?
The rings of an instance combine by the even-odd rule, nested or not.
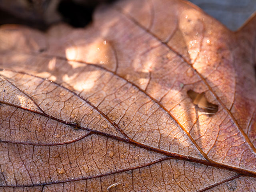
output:
[[[102,3],[115,0],[0,0],[0,24],[24,24],[47,30],[66,22],[84,27]],[[256,0],[190,0],[231,30],[237,30],[256,10]]]

